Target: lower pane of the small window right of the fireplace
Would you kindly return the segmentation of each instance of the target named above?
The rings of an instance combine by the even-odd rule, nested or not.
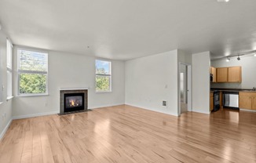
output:
[[[96,91],[110,91],[109,76],[96,76]]]

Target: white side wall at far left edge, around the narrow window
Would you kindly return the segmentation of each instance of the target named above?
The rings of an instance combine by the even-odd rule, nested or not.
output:
[[[0,61],[1,61],[1,69],[0,69],[0,89],[2,89],[2,85],[7,88],[7,69],[6,69],[6,35],[3,31],[0,31]],[[7,91],[3,89],[0,91],[1,93],[1,101],[0,104],[0,139],[3,136],[3,133],[7,129],[9,122],[12,120],[12,100],[6,100]],[[5,114],[5,117],[2,115]]]

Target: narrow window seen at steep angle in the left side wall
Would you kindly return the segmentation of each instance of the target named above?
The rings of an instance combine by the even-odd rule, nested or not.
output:
[[[7,99],[13,97],[13,45],[6,39]]]

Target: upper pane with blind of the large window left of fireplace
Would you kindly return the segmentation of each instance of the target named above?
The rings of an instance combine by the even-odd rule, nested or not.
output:
[[[32,52],[20,49],[20,70],[47,71],[47,53]]]

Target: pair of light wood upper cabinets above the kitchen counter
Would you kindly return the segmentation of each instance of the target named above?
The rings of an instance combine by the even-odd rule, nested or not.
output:
[[[217,82],[242,82],[241,67],[217,68]]]

